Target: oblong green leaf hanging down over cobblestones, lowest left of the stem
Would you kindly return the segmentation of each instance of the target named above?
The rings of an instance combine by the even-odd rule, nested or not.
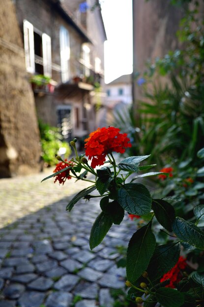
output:
[[[110,215],[104,212],[98,215],[90,231],[89,246],[91,250],[102,242],[112,224]]]

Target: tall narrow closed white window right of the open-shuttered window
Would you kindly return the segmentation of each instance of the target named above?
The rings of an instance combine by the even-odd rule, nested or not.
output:
[[[59,30],[60,59],[61,59],[61,81],[70,79],[70,41],[69,32],[65,27],[60,26]]]

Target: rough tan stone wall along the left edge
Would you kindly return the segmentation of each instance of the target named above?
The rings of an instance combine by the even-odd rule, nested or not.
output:
[[[11,0],[0,6],[0,177],[39,171],[40,143],[23,42]]]

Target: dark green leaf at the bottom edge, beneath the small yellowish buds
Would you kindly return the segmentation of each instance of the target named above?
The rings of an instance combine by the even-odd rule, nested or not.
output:
[[[184,303],[184,294],[171,288],[156,290],[156,299],[163,307],[180,307]]]

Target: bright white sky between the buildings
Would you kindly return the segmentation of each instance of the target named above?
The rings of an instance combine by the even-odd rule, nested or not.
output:
[[[102,0],[105,83],[132,73],[132,0]]]

